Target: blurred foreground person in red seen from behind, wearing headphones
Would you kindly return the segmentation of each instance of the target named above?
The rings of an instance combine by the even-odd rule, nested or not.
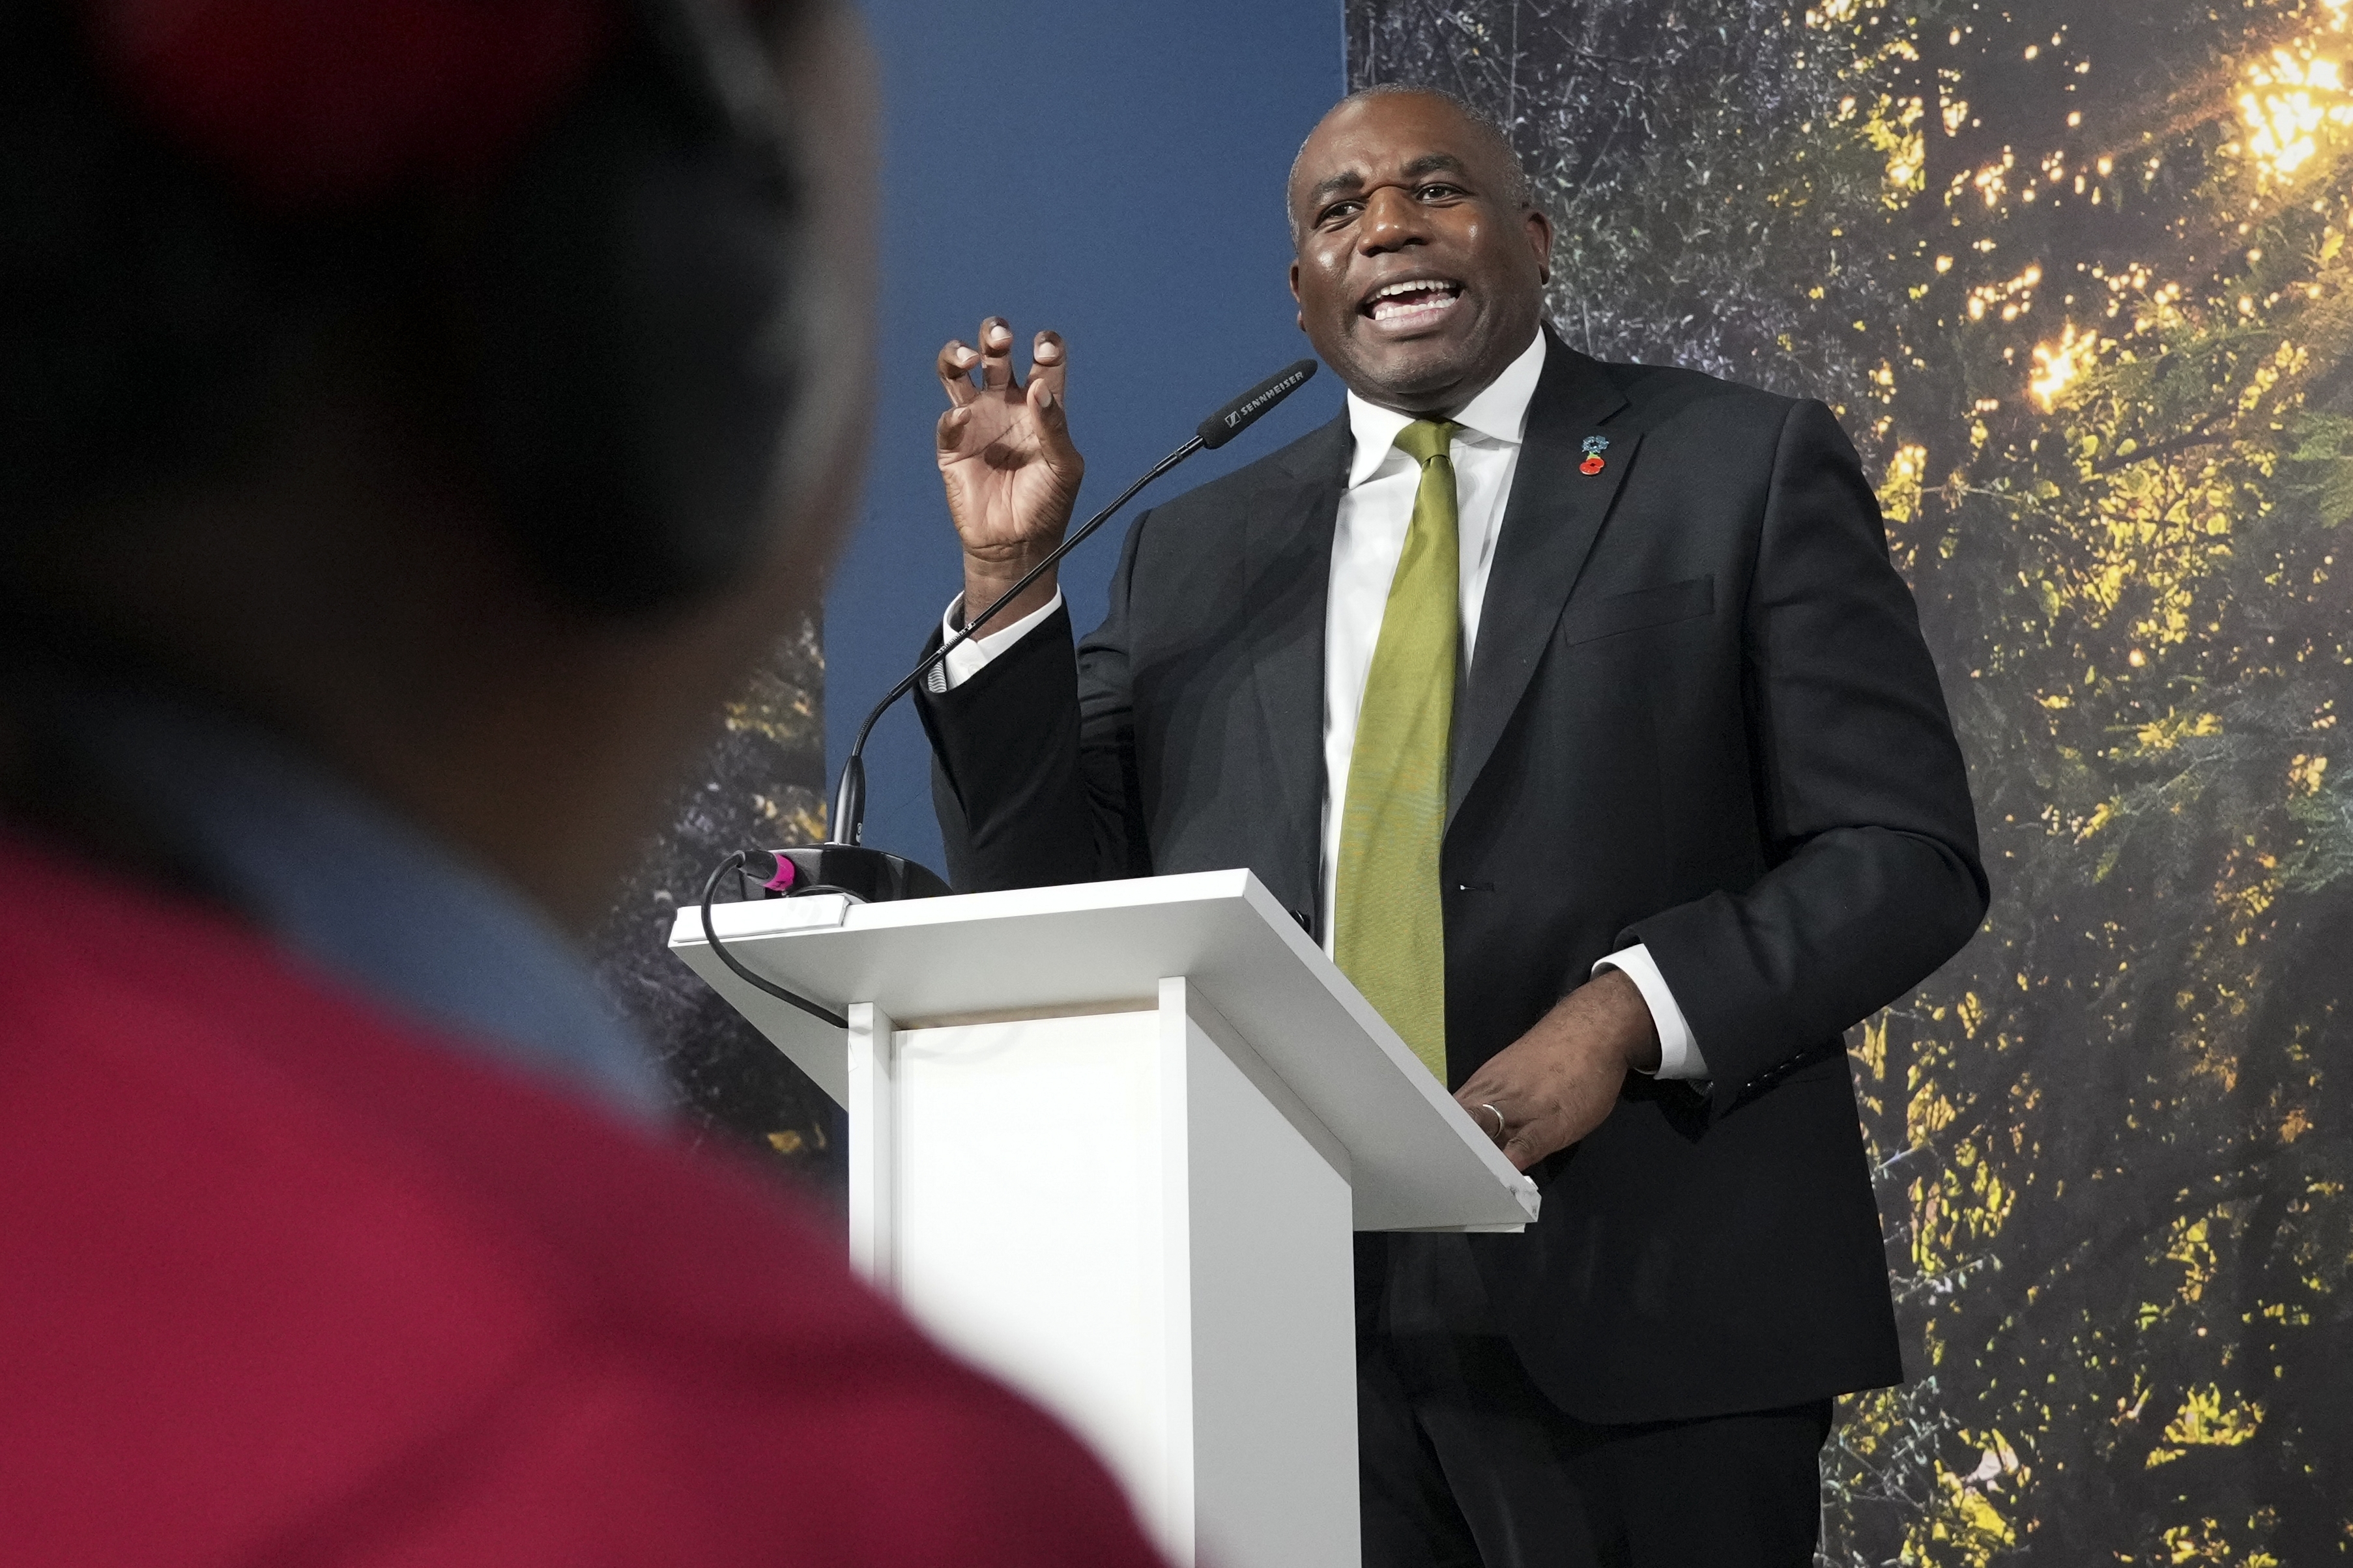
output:
[[[816,604],[824,0],[0,14],[0,1540],[1146,1563],[689,1154],[567,931]]]

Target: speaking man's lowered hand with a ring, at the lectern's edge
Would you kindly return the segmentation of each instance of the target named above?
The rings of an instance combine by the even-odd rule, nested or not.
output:
[[[1605,969],[1454,1091],[1520,1171],[1602,1124],[1633,1070],[1659,1065],[1659,1030],[1642,992]],[[1497,1121],[1501,1117],[1501,1124]]]

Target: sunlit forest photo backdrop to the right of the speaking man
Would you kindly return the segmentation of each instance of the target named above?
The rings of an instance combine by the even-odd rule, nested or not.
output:
[[[2353,1556],[2348,0],[1348,0],[1602,357],[1826,400],[1995,905],[1852,1037],[1906,1389],[1824,1561]]]

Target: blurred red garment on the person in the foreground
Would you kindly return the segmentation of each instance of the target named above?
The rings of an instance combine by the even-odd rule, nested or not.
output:
[[[1153,1563],[748,1171],[0,839],[0,1559]]]

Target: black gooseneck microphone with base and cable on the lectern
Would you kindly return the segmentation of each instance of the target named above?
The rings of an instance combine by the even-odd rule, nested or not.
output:
[[[1184,463],[1195,451],[1224,447],[1235,435],[1266,418],[1278,402],[1304,388],[1313,374],[1315,360],[1299,360],[1297,364],[1289,364],[1249,388],[1209,418],[1200,421],[1193,430],[1193,440],[1153,463],[1141,480],[1122,489],[1111,505],[1089,517],[1085,527],[1061,541],[1052,555],[1031,567],[1019,583],[998,595],[995,604],[976,616],[969,614],[967,607],[965,630],[941,639],[941,644],[932,649],[920,665],[906,672],[906,679],[882,693],[882,701],[875,703],[873,712],[866,715],[866,722],[859,724],[859,738],[849,743],[849,755],[842,759],[842,778],[833,792],[835,837],[824,844],[807,844],[800,849],[739,849],[711,870],[711,879],[704,884],[704,940],[711,943],[711,952],[718,961],[734,971],[734,976],[753,990],[791,1001],[802,1013],[809,1013],[819,1023],[835,1030],[847,1030],[849,1020],[833,1009],[791,992],[765,976],[755,976],[741,959],[727,952],[720,933],[711,926],[711,900],[718,898],[720,879],[727,877],[727,872],[741,872],[746,882],[744,891],[751,891],[755,884],[762,898],[847,893],[849,898],[864,903],[887,903],[894,898],[939,898],[941,893],[948,893],[946,879],[941,879],[932,867],[918,865],[906,856],[866,849],[859,842],[866,835],[866,736],[873,733],[875,722],[889,712],[892,703],[913,691],[925,675],[939,668],[939,661],[962,646],[972,637],[972,628],[986,625],[991,616],[1012,604],[1024,588],[1035,583],[1047,571],[1047,567],[1075,550],[1089,534],[1104,527],[1113,512],[1134,501],[1136,491],[1165,475],[1169,468],[1176,468],[1176,463]]]

